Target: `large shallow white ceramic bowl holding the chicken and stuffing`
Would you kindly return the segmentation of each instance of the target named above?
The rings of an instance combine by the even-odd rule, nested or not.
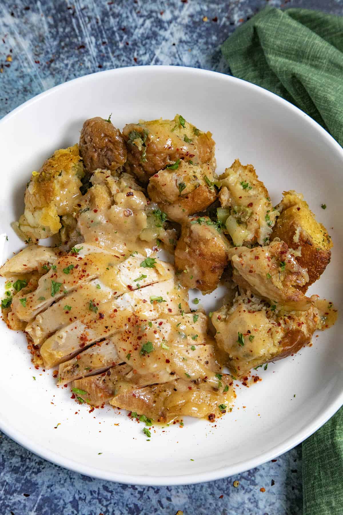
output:
[[[274,203],[283,190],[302,192],[334,241],[332,262],[310,291],[340,307],[343,149],[278,96],[192,68],[141,66],[88,75],[38,95],[0,122],[0,232],[9,238],[1,236],[2,262],[22,247],[10,222],[22,212],[31,171],[55,149],[76,143],[86,118],[111,112],[119,128],[180,113],[213,133],[219,173],[239,157],[254,164]],[[220,297],[220,291],[207,296],[203,305],[210,309]],[[215,426],[189,418],[183,428],[156,427],[147,442],[142,425],[124,411],[89,414],[88,406],[79,407],[50,371],[32,368],[23,334],[1,323],[0,427],[58,465],[120,483],[177,485],[236,474],[291,449],[343,404],[342,329],[339,318],[313,347],[259,369],[263,381],[237,387],[236,407]]]

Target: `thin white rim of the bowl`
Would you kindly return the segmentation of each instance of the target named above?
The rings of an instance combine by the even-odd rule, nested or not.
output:
[[[308,114],[304,113],[301,109],[291,104],[284,98],[272,93],[260,86],[253,84],[251,82],[245,81],[243,79],[239,79],[237,77],[233,77],[231,75],[227,75],[220,72],[214,72],[211,70],[202,70],[201,68],[194,68],[190,66],[177,66],[177,65],[143,65],[143,66],[125,66],[120,68],[114,68],[112,70],[105,70],[101,72],[95,72],[87,75],[83,75],[81,77],[77,77],[75,79],[71,79],[62,84],[58,84],[34,97],[30,98],[20,106],[13,109],[11,112],[6,114],[2,119],[0,119],[0,127],[6,124],[6,122],[21,113],[27,107],[32,106],[36,102],[39,102],[42,98],[47,97],[49,95],[53,95],[56,91],[67,89],[70,83],[74,82],[87,82],[94,80],[95,76],[99,76],[98,80],[101,80],[101,77],[104,75],[119,75],[119,74],[145,74],[145,73],[186,73],[186,74],[198,74],[200,76],[214,76],[218,77],[218,79],[226,80],[227,82],[236,82],[240,84],[242,87],[250,89],[250,90],[259,90],[261,95],[265,97],[269,97],[272,101],[278,102],[283,105],[287,109],[293,111],[296,115],[300,115],[306,118],[306,122],[314,127],[317,131],[318,135],[321,135],[326,143],[331,146],[332,150],[338,153],[343,163],[343,148],[334,140],[334,138],[323,128],[321,127],[313,118],[311,118]],[[100,75],[101,74],[101,75]],[[336,411],[343,405],[343,388],[337,398],[331,402],[328,402],[326,409],[321,412],[321,414],[316,417],[311,424],[303,427],[297,434],[292,435],[288,438],[285,438],[281,443],[275,445],[272,449],[265,451],[258,456],[251,458],[249,460],[243,460],[237,462],[234,465],[227,465],[224,467],[220,467],[218,469],[212,470],[210,472],[195,472],[192,474],[180,474],[180,475],[171,475],[171,476],[142,476],[142,475],[134,475],[134,474],[125,474],[118,472],[109,472],[103,471],[101,469],[88,466],[86,464],[80,464],[79,462],[69,459],[63,458],[58,453],[43,447],[42,445],[35,444],[30,442],[29,437],[14,428],[11,427],[10,422],[6,422],[2,420],[0,414],[0,430],[7,435],[9,438],[14,440],[16,443],[19,443],[27,449],[28,451],[38,455],[55,465],[59,465],[65,469],[71,470],[73,472],[78,472],[80,474],[94,477],[97,479],[109,480],[112,482],[129,484],[129,485],[141,485],[141,486],[177,486],[177,485],[190,485],[196,483],[209,482],[216,479],[222,479],[225,477],[229,477],[231,475],[239,474],[250,470],[252,468],[258,467],[259,465],[264,464],[265,462],[274,459],[281,454],[293,449],[296,445],[304,441],[306,438],[315,433],[324,423],[326,423],[335,413]],[[147,480],[148,479],[148,480]]]

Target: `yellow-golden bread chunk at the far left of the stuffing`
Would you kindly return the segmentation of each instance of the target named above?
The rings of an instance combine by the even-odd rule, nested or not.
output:
[[[81,198],[83,176],[77,145],[56,150],[39,171],[33,171],[25,191],[24,214],[14,225],[19,235],[34,243],[58,233],[59,217],[73,212]]]

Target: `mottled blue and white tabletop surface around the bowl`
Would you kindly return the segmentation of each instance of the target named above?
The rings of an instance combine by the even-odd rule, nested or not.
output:
[[[220,45],[266,4],[343,14],[343,0],[1,0],[0,116],[52,86],[110,68],[173,64],[230,73]],[[0,434],[0,515],[175,515],[177,510],[300,515],[301,446],[237,477],[137,487],[69,472]]]

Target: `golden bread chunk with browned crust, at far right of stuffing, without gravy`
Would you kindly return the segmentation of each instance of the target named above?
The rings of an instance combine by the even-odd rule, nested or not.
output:
[[[317,222],[303,195],[293,190],[283,192],[276,209],[281,214],[271,237],[280,238],[294,249],[301,247],[301,255],[296,260],[309,274],[309,281],[299,288],[305,292],[330,263],[332,239],[327,229]]]

